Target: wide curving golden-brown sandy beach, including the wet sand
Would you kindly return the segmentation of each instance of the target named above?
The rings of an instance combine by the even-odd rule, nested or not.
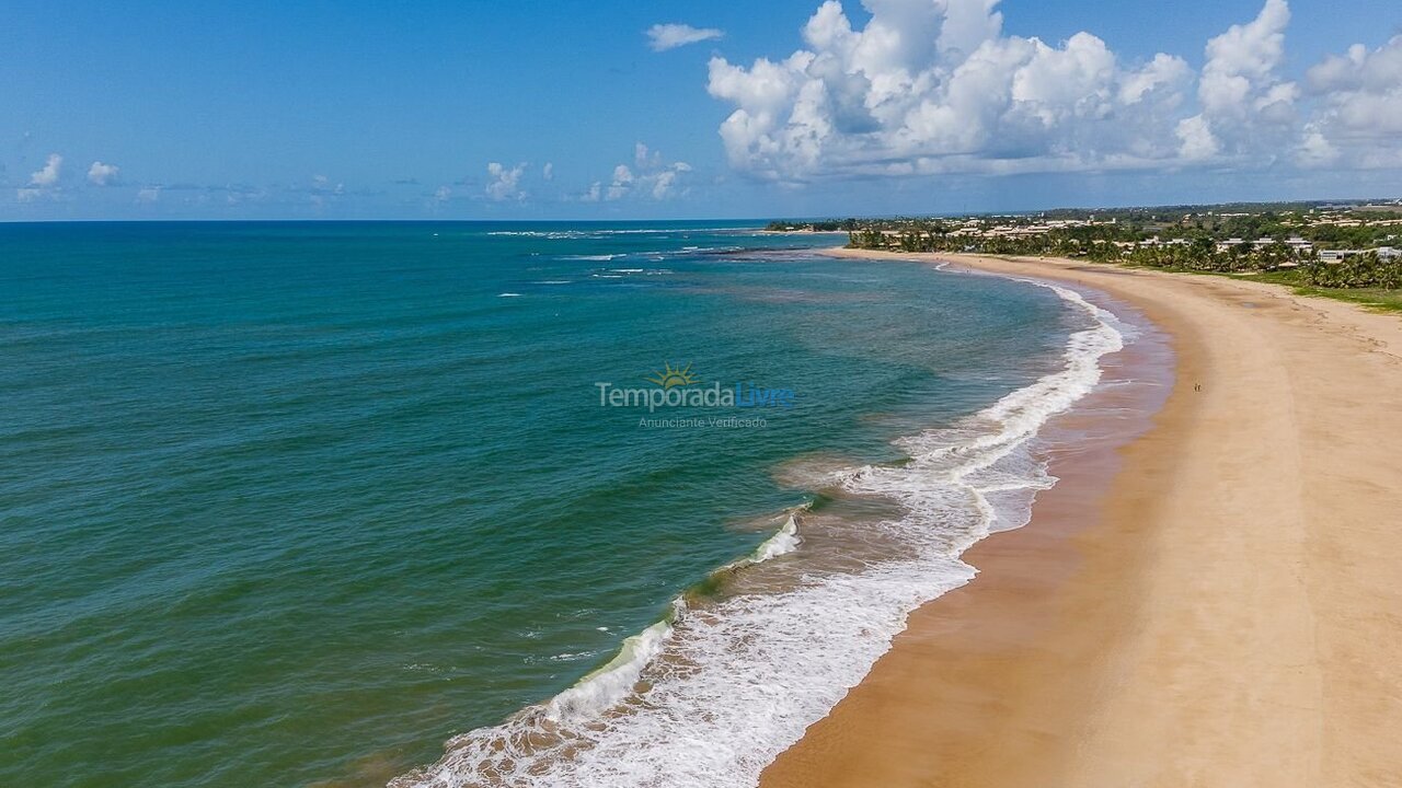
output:
[[[1053,458],[1022,530],[764,773],[812,787],[1402,784],[1402,320],[1220,276],[953,261],[1141,310],[1133,440]],[[1092,395],[1094,397],[1094,395]]]

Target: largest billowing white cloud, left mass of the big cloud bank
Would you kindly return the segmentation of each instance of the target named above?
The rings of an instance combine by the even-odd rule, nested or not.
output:
[[[709,93],[732,165],[780,181],[823,175],[1117,168],[1176,157],[1192,72],[1123,63],[1099,38],[1004,35],[997,0],[868,0],[861,29],[837,0],[808,49],[750,67],[712,57]]]

